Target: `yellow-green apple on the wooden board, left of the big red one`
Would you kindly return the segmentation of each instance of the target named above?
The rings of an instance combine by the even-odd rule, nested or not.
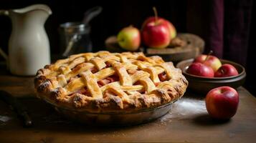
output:
[[[128,51],[136,51],[141,44],[140,31],[133,26],[123,28],[118,33],[118,44]]]

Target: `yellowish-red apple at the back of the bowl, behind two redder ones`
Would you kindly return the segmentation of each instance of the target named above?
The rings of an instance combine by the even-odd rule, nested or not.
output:
[[[199,62],[206,64],[207,66],[211,66],[214,72],[216,72],[220,66],[222,66],[222,62],[216,56],[209,55],[208,58],[206,54],[202,54],[194,59],[194,62]]]

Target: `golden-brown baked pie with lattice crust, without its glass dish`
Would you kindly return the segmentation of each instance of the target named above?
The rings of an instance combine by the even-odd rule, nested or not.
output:
[[[187,86],[172,62],[141,52],[75,54],[39,69],[34,79],[39,98],[94,113],[159,107],[182,97]]]

